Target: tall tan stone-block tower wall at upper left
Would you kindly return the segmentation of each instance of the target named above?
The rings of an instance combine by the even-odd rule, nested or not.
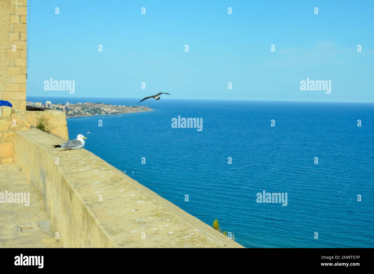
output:
[[[0,0],[0,100],[26,111],[27,0]]]

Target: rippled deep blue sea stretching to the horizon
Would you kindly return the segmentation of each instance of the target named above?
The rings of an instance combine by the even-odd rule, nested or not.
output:
[[[69,136],[90,132],[85,149],[245,247],[374,247],[374,104],[165,97],[142,102],[153,112],[69,118]],[[178,115],[203,130],[172,128]],[[287,206],[257,203],[263,191]]]

